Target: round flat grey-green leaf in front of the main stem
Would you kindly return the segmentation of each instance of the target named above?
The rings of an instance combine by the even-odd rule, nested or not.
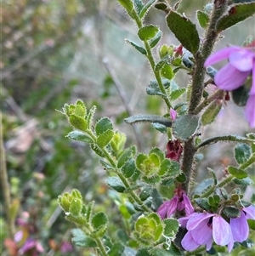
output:
[[[188,140],[198,127],[198,117],[183,115],[173,122],[173,134],[177,139]]]

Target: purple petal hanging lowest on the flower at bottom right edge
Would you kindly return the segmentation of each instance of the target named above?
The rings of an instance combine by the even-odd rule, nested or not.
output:
[[[245,213],[241,212],[239,218],[230,219],[230,228],[235,242],[243,242],[249,236],[249,226]]]

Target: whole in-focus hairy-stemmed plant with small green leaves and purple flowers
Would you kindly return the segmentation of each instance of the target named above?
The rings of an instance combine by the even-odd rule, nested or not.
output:
[[[94,211],[94,202],[85,202],[79,191],[72,190],[59,196],[65,218],[77,225],[72,230],[72,242],[104,256],[237,255],[236,250],[241,253],[238,255],[252,255],[249,232],[255,228],[255,207],[243,200],[239,187],[252,185],[255,134],[207,139],[201,139],[201,134],[230,97],[236,105],[245,106],[246,120],[255,128],[255,40],[212,53],[226,29],[255,13],[255,2],[208,3],[196,11],[204,30],[202,37],[195,24],[178,12],[181,1],[174,6],[167,0],[117,2],[138,28],[140,43],[128,39],[127,43],[144,55],[154,74],[146,93],[161,97],[166,110],[162,116],[148,113],[127,117],[125,122],[150,122],[159,133],[166,134],[166,151],[152,148],[137,152],[135,145],[125,147],[126,135],[114,129],[110,118],[94,121],[95,106],[88,110],[82,100],[65,104],[63,114],[73,128],[67,137],[90,144],[100,156],[107,185],[127,199],[126,221],[132,226],[132,230],[124,230],[125,239],[111,241],[107,211]],[[160,28],[145,25],[151,8],[166,16],[178,46],[160,45]],[[220,60],[228,60],[228,64],[218,71],[212,65]],[[180,70],[190,76],[189,84],[182,88],[174,81]],[[207,89],[209,84],[214,86],[213,93]],[[208,167],[212,182],[202,182],[203,187],[196,190],[191,179],[196,177],[195,157],[201,149],[218,142],[234,143],[236,164],[225,167],[220,180]],[[227,190],[230,184],[231,190]],[[172,189],[173,197],[161,196],[162,187]]]

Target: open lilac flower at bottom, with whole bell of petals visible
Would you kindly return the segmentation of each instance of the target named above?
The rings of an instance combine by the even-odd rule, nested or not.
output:
[[[234,246],[230,225],[218,214],[192,213],[178,221],[188,230],[181,242],[186,251],[194,251],[201,245],[206,245],[208,251],[212,239],[220,246],[229,245],[229,252]]]

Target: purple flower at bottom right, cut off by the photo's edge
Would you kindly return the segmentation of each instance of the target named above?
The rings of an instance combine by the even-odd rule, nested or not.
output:
[[[244,242],[249,236],[247,219],[255,219],[255,207],[250,205],[243,208],[239,218],[230,218],[230,228],[234,242]]]

